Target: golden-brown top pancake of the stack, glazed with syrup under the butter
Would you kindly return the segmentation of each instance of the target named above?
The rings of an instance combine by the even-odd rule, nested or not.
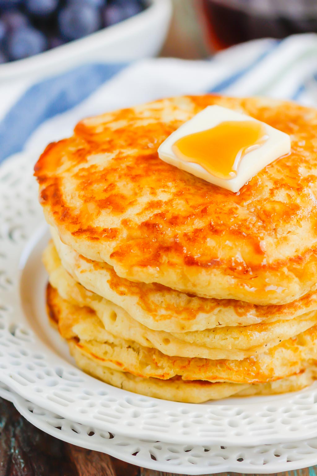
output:
[[[219,104],[291,135],[288,157],[234,194],[158,158],[184,121]],[[120,277],[202,297],[283,304],[317,276],[317,111],[205,95],[85,119],[35,166],[62,241]],[[219,158],[221,160],[221,157]]]

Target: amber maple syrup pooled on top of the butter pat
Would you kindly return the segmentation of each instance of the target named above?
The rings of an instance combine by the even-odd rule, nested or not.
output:
[[[211,175],[230,180],[237,176],[241,159],[267,139],[265,126],[260,122],[224,121],[178,139],[172,150],[179,159],[199,164]]]

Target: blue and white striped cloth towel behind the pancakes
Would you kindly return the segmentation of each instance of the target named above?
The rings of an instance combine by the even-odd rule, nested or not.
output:
[[[39,152],[85,116],[164,96],[265,95],[317,107],[316,79],[317,35],[306,34],[244,43],[211,60],[89,64],[33,85],[21,80],[0,89],[0,161]]]

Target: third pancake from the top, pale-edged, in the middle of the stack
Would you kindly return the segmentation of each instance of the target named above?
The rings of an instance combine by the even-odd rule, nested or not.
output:
[[[50,284],[61,297],[75,306],[91,307],[104,328],[114,336],[134,340],[144,347],[156,348],[168,356],[243,359],[264,352],[317,324],[317,312],[313,311],[291,321],[247,327],[220,327],[180,334],[155,331],[134,320],[122,307],[87,291],[77,283],[61,266],[52,244],[44,251],[43,262]],[[86,335],[81,334],[79,337],[99,342],[104,339],[97,327],[95,332],[89,330]]]

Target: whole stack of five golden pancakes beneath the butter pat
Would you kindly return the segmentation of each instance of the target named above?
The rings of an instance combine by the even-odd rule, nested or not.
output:
[[[291,154],[237,194],[160,160],[163,140],[212,104],[288,133]],[[317,111],[164,99],[79,122],[35,175],[48,314],[84,371],[183,402],[317,376]]]

